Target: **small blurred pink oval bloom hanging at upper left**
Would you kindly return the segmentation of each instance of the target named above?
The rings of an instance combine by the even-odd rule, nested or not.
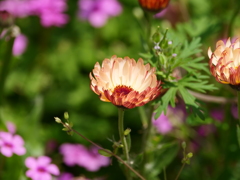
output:
[[[27,37],[23,34],[18,35],[14,40],[13,49],[12,49],[13,55],[19,56],[23,54],[27,48],[27,44],[28,44]]]

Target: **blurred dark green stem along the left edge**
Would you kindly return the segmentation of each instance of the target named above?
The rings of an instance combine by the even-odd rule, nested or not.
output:
[[[3,57],[2,67],[1,67],[1,74],[0,74],[0,106],[2,105],[3,95],[4,95],[4,87],[5,81],[8,75],[9,66],[12,57],[12,47],[13,47],[14,38],[11,38],[7,43],[7,48],[5,55]]]

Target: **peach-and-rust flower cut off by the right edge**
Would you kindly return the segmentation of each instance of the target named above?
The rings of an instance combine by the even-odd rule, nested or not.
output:
[[[208,49],[208,57],[210,71],[218,82],[232,87],[240,84],[240,39],[234,43],[230,38],[226,43],[218,41],[214,52]]]

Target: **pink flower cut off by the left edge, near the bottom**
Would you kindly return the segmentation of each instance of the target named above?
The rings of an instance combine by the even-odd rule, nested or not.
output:
[[[4,156],[11,157],[13,154],[24,155],[26,149],[23,145],[24,141],[21,136],[13,135],[9,132],[0,132],[0,152]]]

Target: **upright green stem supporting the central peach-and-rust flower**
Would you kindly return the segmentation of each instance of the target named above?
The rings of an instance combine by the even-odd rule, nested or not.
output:
[[[119,132],[119,137],[120,137],[120,141],[123,144],[123,154],[124,154],[124,158],[127,161],[127,164],[130,164],[129,160],[129,149],[128,149],[128,144],[127,144],[127,139],[124,136],[124,109],[123,108],[118,108],[118,132]],[[128,169],[126,170],[126,176],[127,179],[130,180],[131,176],[130,173],[128,171]]]

